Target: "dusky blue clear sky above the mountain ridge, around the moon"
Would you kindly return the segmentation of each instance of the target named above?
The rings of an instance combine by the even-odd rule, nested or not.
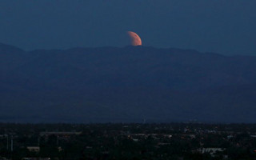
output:
[[[256,55],[255,0],[1,0],[0,42],[34,49],[142,44]]]

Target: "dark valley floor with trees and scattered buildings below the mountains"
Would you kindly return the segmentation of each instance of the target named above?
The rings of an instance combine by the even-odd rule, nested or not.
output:
[[[0,124],[0,159],[256,159],[254,124]]]

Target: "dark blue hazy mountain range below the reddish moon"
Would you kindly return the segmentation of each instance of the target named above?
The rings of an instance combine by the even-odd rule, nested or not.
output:
[[[0,44],[0,121],[255,122],[256,57]]]

